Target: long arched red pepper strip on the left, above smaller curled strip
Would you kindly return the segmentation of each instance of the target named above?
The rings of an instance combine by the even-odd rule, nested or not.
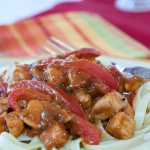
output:
[[[8,90],[10,92],[17,88],[34,89],[44,94],[48,94],[48,95],[52,94],[55,96],[58,95],[61,98],[62,102],[69,108],[71,112],[73,112],[74,114],[82,118],[85,118],[84,112],[82,108],[80,107],[80,105],[67,93],[65,93],[63,90],[59,89],[58,87],[54,86],[51,83],[46,84],[40,81],[23,80],[23,81],[11,84]]]

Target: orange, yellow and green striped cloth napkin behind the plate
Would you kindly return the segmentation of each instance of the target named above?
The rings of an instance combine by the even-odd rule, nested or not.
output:
[[[38,57],[41,46],[54,36],[76,47],[93,47],[102,54],[150,58],[150,50],[97,14],[58,13],[0,26],[0,57]]]

